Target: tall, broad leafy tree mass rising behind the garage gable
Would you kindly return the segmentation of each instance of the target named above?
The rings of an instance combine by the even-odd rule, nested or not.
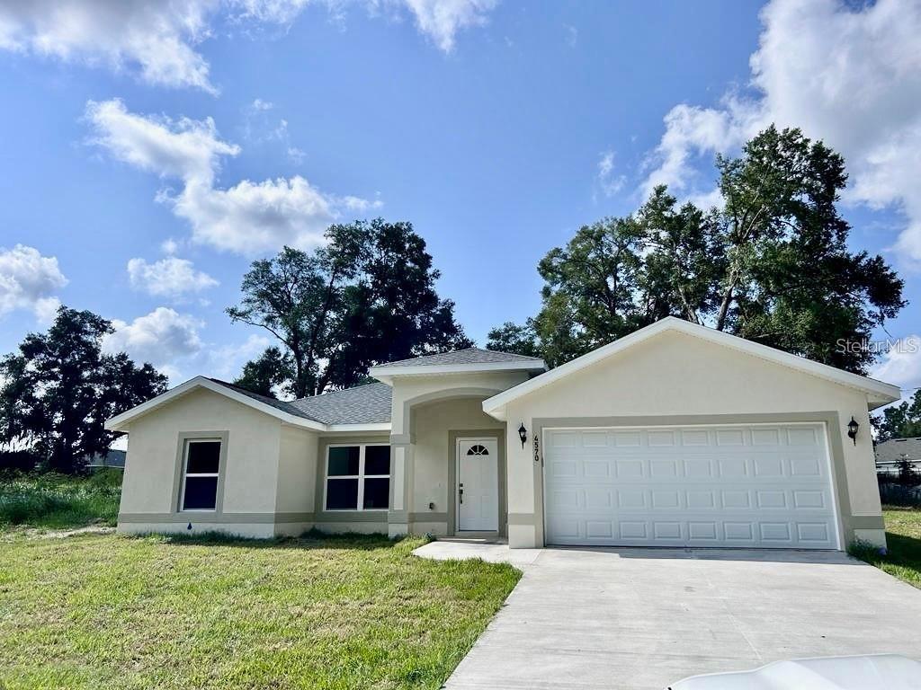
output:
[[[903,282],[879,256],[847,247],[844,160],[770,127],[740,156],[718,157],[717,172],[722,208],[679,205],[659,187],[636,213],[584,226],[542,259],[533,331],[548,362],[679,316],[866,371],[872,351],[838,342],[865,341],[894,316]]]

